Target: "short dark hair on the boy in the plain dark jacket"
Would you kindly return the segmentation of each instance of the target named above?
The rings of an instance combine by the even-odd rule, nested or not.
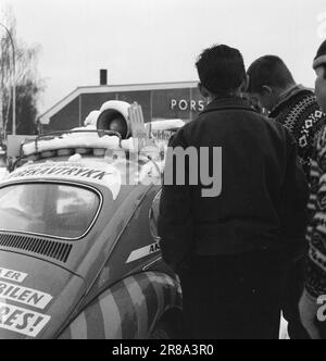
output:
[[[213,95],[237,90],[246,77],[240,51],[225,45],[204,50],[196,66],[201,84]]]

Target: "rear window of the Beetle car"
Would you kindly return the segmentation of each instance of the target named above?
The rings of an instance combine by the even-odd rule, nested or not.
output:
[[[100,207],[96,191],[52,183],[0,189],[0,229],[78,239],[91,227]]]

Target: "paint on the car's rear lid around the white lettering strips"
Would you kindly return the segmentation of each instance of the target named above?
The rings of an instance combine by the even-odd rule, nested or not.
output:
[[[38,338],[53,337],[58,326],[63,324],[66,318],[73,313],[80,298],[86,294],[86,284],[82,277],[43,260],[0,250],[0,264],[1,267],[27,274],[23,283],[1,279],[0,285],[8,283],[15,287],[30,288],[53,297],[45,309],[38,309],[22,304],[21,301],[8,301],[0,296],[1,303],[10,303],[17,308],[51,316],[47,326],[37,335]],[[1,323],[4,323],[2,315],[0,316]],[[23,339],[28,337],[0,327],[0,338]]]

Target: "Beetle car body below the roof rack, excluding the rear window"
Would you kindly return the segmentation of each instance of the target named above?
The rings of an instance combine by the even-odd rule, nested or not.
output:
[[[108,182],[102,182],[109,172]],[[149,337],[165,312],[180,311],[179,282],[162,261],[159,238],[153,235],[155,225],[150,219],[153,202],[158,206],[160,187],[118,184],[115,172],[111,165],[87,160],[41,162],[26,164],[0,183],[0,188],[22,184],[70,185],[91,189],[101,198],[93,224],[78,239],[0,231],[0,269],[16,270],[15,264],[20,265],[16,271],[28,274],[24,287],[52,297],[51,304],[43,310],[27,308],[35,316],[25,315],[30,322],[24,323],[24,313],[23,319],[12,316],[7,321],[5,312],[20,313],[24,309],[24,304],[12,299],[2,304],[1,319],[0,295],[0,338],[61,335],[62,338],[142,339]],[[98,178],[92,179],[93,176]],[[52,244],[42,246],[52,251],[28,248],[29,242]],[[55,259],[58,247],[53,245],[57,244],[68,245],[65,261]],[[1,281],[0,277],[0,291]],[[26,324],[32,329],[32,321],[42,316],[42,327],[37,333],[12,332],[5,325],[15,322],[17,328]]]

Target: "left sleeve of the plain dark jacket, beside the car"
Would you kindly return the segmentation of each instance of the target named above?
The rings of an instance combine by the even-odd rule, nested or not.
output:
[[[164,185],[160,204],[159,235],[164,261],[176,273],[180,273],[187,269],[191,254],[193,220],[191,187],[187,184],[189,163],[186,163],[185,169],[181,170],[173,161],[173,153],[177,148],[187,148],[183,129],[171,140],[166,154]],[[176,183],[176,172],[185,173],[185,185]],[[167,178],[173,179],[173,182],[168,182]]]

